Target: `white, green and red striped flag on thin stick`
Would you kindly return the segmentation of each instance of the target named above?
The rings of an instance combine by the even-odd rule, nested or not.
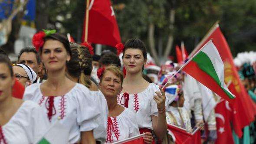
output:
[[[212,41],[190,58],[183,71],[227,101],[235,98],[224,83],[224,64]]]

